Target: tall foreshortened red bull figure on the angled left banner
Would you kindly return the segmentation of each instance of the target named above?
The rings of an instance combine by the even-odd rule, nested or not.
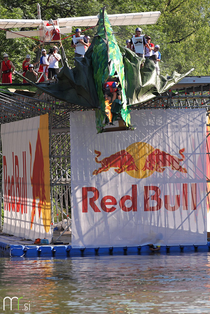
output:
[[[41,209],[46,204],[45,185],[44,185],[44,158],[43,158],[43,153],[42,153],[39,130],[37,134],[32,177],[31,177],[32,152],[31,152],[30,142],[29,142],[29,148],[30,148],[30,182],[31,182],[32,194],[33,194],[32,213],[31,213],[31,222],[30,222],[30,228],[32,228],[35,210],[36,210],[36,200],[39,199],[39,203],[38,203],[39,218],[41,215]]]

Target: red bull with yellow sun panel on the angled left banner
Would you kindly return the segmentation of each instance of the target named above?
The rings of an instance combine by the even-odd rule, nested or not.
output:
[[[50,230],[51,206],[50,206],[50,177],[49,177],[49,140],[46,136],[48,131],[48,115],[40,116],[40,126],[37,132],[35,154],[32,164],[32,148],[30,148],[30,183],[32,186],[32,211],[30,229],[32,229],[38,202],[38,217],[43,219],[43,225],[46,232]],[[47,132],[48,133],[48,132]]]

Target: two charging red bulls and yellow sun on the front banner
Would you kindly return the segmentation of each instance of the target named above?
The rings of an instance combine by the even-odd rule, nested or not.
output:
[[[181,166],[184,161],[184,148],[180,149],[177,157],[170,155],[164,151],[153,148],[145,142],[136,142],[128,146],[125,150],[121,150],[109,157],[101,160],[101,152],[95,150],[95,162],[100,163],[101,167],[93,171],[93,175],[108,171],[111,167],[115,168],[115,172],[126,172],[133,178],[143,179],[149,177],[154,171],[163,172],[166,167],[171,170],[187,173],[187,170]]]

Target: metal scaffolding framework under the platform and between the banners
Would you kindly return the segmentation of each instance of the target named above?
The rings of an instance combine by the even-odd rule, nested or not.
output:
[[[185,80],[186,79],[186,80]],[[210,112],[210,77],[188,77],[167,92],[145,103],[132,105],[133,110],[206,108]],[[40,93],[30,85],[0,85],[0,124],[49,114],[49,152],[51,208],[53,222],[71,218],[70,112],[87,110]],[[11,91],[12,87],[12,91]],[[26,90],[27,89],[27,90]],[[32,96],[30,93],[33,93]],[[207,131],[207,162],[210,163],[210,125]],[[0,149],[1,151],[1,149]],[[2,156],[2,155],[0,155]],[[0,186],[2,162],[0,169]],[[210,200],[210,176],[207,173],[207,200]],[[2,189],[1,189],[2,191]],[[0,197],[2,205],[2,193]],[[1,206],[2,209],[2,206]],[[208,209],[210,209],[208,202]],[[0,217],[1,218],[1,217]],[[0,219],[0,229],[2,222]]]

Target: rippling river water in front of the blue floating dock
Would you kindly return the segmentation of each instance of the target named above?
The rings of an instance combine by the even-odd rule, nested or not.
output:
[[[210,253],[0,258],[3,313],[209,314]]]

